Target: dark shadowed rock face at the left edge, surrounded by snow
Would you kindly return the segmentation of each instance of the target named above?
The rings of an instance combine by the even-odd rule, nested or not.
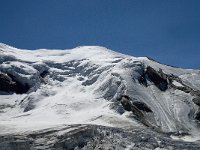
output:
[[[0,91],[7,93],[26,93],[30,87],[27,84],[22,84],[14,79],[10,74],[0,73]]]

